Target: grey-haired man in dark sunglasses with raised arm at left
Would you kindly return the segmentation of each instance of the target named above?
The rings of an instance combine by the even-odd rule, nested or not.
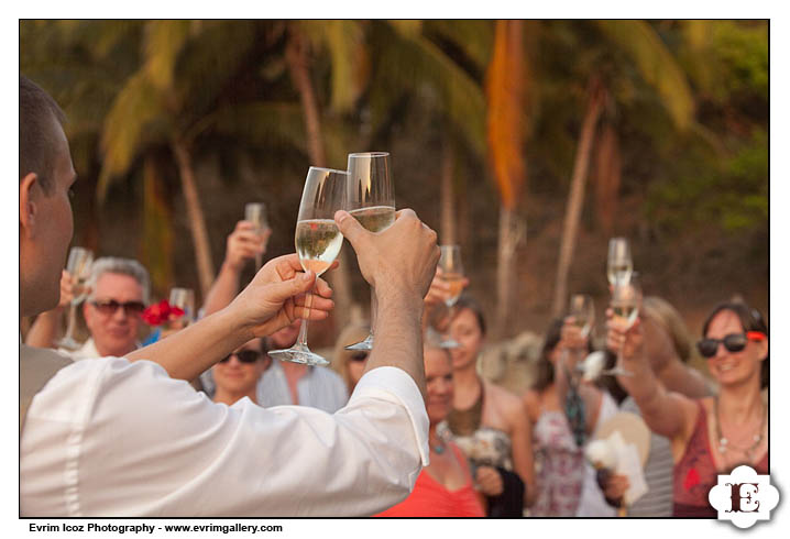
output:
[[[83,305],[83,315],[90,338],[77,350],[58,349],[58,352],[76,361],[109,355],[122,358],[140,348],[142,314],[151,289],[145,267],[131,258],[103,256],[94,262],[86,285],[90,292]],[[61,317],[72,297],[72,278],[64,271],[61,301],[56,308],[36,317],[25,339],[29,345],[56,345]]]

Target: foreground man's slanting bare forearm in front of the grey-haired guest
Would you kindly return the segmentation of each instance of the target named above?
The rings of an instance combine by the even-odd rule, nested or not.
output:
[[[254,336],[223,309],[127,355],[162,365],[172,378],[191,381]]]

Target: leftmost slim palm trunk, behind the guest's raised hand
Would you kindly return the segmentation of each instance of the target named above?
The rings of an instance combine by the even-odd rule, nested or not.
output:
[[[193,242],[195,243],[195,258],[197,262],[198,279],[200,282],[200,293],[202,297],[206,297],[209,288],[211,288],[215,272],[213,262],[211,261],[211,245],[206,228],[206,218],[200,206],[200,197],[195,180],[195,169],[193,167],[189,148],[183,141],[174,140],[172,148],[176,156],[176,163],[178,164],[182,189],[184,189],[184,199],[187,206],[189,229],[191,230]]]

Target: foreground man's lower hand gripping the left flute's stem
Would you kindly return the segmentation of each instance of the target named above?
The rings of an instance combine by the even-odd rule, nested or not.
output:
[[[338,266],[336,261],[331,266]],[[307,294],[316,285],[315,294]],[[297,318],[323,320],[334,307],[329,285],[303,272],[299,257],[288,254],[268,261],[228,307],[252,337],[265,337]]]

